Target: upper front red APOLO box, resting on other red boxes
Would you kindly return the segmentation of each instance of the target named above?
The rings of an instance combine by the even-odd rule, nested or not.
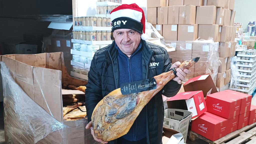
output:
[[[226,95],[216,92],[207,95],[206,107],[207,111],[212,114],[230,119],[239,115],[241,99],[237,97],[227,97]]]

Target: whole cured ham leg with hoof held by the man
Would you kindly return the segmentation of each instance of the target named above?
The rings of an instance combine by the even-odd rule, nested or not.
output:
[[[179,68],[189,69],[199,57],[184,61]],[[105,96],[94,108],[92,127],[94,136],[103,141],[110,141],[125,135],[133,125],[143,107],[170,80],[175,77],[176,69],[155,76],[156,89],[122,95],[121,89],[116,89]]]

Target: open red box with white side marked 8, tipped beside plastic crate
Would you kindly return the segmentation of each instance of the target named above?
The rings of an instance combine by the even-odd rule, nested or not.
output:
[[[196,118],[207,111],[202,91],[179,93],[167,100],[167,105],[168,108],[183,109],[192,112],[192,118]]]

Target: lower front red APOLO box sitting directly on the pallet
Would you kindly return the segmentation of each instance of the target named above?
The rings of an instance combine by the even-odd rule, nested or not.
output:
[[[191,130],[211,141],[215,141],[227,135],[227,125],[227,119],[205,112],[192,121]]]

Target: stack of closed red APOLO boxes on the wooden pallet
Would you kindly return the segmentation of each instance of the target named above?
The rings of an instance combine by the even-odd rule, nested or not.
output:
[[[207,112],[192,122],[191,130],[215,141],[256,121],[252,96],[225,90],[207,95]],[[212,135],[214,132],[214,135]]]

